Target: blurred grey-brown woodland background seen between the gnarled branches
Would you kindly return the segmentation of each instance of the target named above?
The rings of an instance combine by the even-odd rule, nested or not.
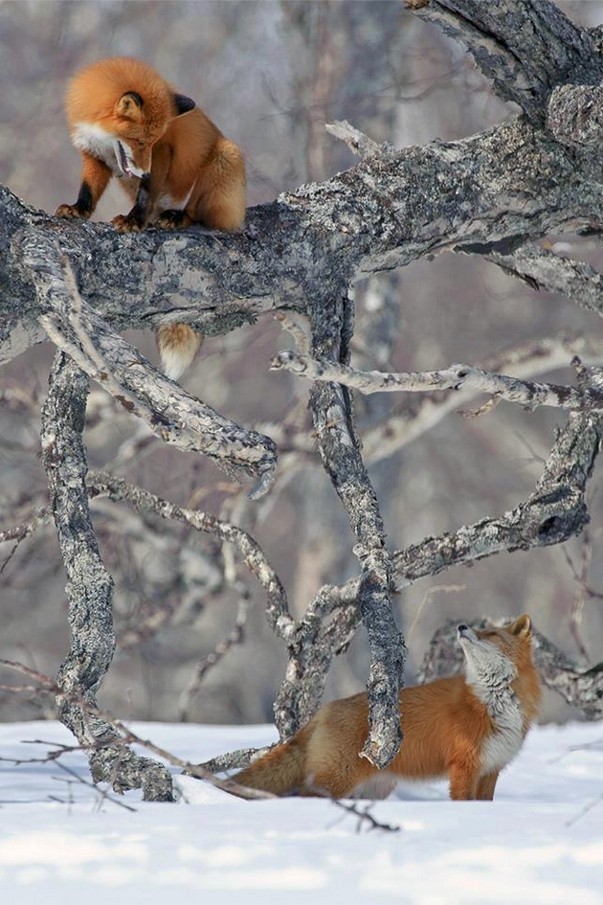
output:
[[[601,2],[558,5],[579,23],[603,22]],[[0,182],[25,202],[54,211],[75,200],[79,158],[64,122],[65,84],[82,65],[119,55],[151,63],[241,146],[249,205],[354,164],[347,148],[325,131],[325,122],[347,119],[371,138],[403,147],[454,140],[517,115],[493,97],[461,46],[413,18],[399,0],[5,0]],[[95,219],[127,210],[113,183]],[[567,241],[574,257],[603,266],[598,242]],[[364,368],[475,364],[541,337],[597,335],[603,329],[594,314],[563,298],[536,293],[493,265],[451,254],[359,283],[355,294],[353,364]],[[150,334],[131,338],[157,360]],[[323,583],[353,577],[357,567],[346,517],[314,451],[309,384],[268,370],[272,355],[289,344],[277,322],[261,319],[207,339],[183,380],[228,417],[276,439],[280,477],[259,502],[247,500],[211,463],[149,438],[97,388],[86,440],[91,468],[106,468],[248,530],[299,616]],[[38,425],[52,354],[44,344],[0,377],[2,527],[47,501]],[[546,376],[573,380],[569,367]],[[473,419],[453,412],[413,442],[387,444],[390,419],[414,404],[402,394],[356,396],[370,474],[394,549],[512,508],[531,492],[555,426],[565,418],[555,410],[528,414],[502,404]],[[457,568],[398,598],[409,681],[433,631],[448,618],[528,611],[577,662],[600,657],[603,505],[597,484],[595,476],[588,533],[575,542]],[[284,652],[265,623],[260,590],[243,573],[235,574],[228,551],[182,526],[142,518],[108,501],[95,502],[93,515],[116,579],[118,631],[118,651],[99,702],[124,718],[270,721]],[[54,674],[68,650],[65,578],[54,526],[39,529],[15,551],[11,544],[0,546],[0,569],[0,656]],[[197,687],[199,661],[233,630],[237,612],[244,618],[241,600],[248,607],[243,642]],[[335,664],[329,696],[362,688],[366,669],[360,634]],[[50,715],[45,706],[0,692],[2,720]],[[568,712],[547,698],[546,719],[563,719]]]

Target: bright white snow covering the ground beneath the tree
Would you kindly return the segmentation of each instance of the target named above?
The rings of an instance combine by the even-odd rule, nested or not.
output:
[[[268,726],[137,723],[194,762],[265,744]],[[57,723],[0,725],[4,758],[71,744]],[[79,752],[61,758],[88,780]],[[0,898],[10,905],[603,905],[603,724],[538,727],[494,802],[444,784],[371,805],[369,830],[332,802],[247,802],[178,776],[179,804],[103,799],[56,763],[0,762]],[[364,806],[365,803],[360,803]],[[201,894],[199,896],[198,894]]]

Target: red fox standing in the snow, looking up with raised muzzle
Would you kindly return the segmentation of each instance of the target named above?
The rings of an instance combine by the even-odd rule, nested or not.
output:
[[[538,712],[530,617],[484,631],[459,625],[458,637],[465,675],[400,692],[404,741],[385,770],[359,756],[368,704],[366,694],[356,694],[326,704],[290,741],[233,779],[275,795],[344,798],[372,788],[382,774],[388,793],[396,776],[448,776],[452,799],[491,800],[499,772],[518,753]]]

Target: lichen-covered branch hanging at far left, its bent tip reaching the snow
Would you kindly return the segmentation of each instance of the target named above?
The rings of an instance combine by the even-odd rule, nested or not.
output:
[[[85,745],[95,781],[116,791],[142,788],[146,800],[173,800],[162,765],[119,744],[115,730],[94,715],[96,692],[113,658],[113,581],[100,557],[86,491],[82,442],[88,378],[57,352],[42,410],[42,454],[59,546],[67,572],[71,650],[57,686],[59,716]],[[80,703],[80,699],[82,703]],[[92,712],[92,715],[91,715]]]

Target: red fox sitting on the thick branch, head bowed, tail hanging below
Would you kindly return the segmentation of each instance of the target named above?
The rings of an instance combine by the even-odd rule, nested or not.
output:
[[[238,147],[150,66],[116,57],[82,69],[66,95],[71,138],[82,157],[75,204],[58,217],[91,216],[111,176],[134,202],[113,218],[122,232],[152,224],[177,229],[201,223],[234,231],[245,219],[245,164]],[[176,380],[194,359],[201,336],[185,324],[158,330],[162,366]]]

